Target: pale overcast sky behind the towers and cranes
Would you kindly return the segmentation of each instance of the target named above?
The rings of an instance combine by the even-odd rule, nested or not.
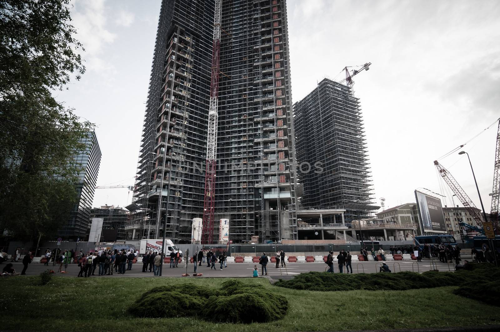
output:
[[[97,185],[133,185],[160,1],[73,5],[87,70],[54,94],[96,123]],[[451,206],[452,193],[433,165],[438,159],[480,208],[466,155],[458,149],[440,158],[466,143],[489,212],[493,122],[500,117],[500,1],[287,0],[287,10],[293,102],[324,77],[341,79],[344,66],[372,63],[353,80],[373,202],[384,197],[386,208],[414,202],[413,190],[427,188]],[[124,206],[131,196],[126,188],[96,189],[93,206]]]

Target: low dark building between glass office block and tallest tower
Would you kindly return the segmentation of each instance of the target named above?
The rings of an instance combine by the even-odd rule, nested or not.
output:
[[[114,205],[102,205],[92,207],[90,210],[90,221],[92,218],[102,218],[101,240],[114,242],[125,240],[125,224],[129,219],[129,212],[123,207]]]

